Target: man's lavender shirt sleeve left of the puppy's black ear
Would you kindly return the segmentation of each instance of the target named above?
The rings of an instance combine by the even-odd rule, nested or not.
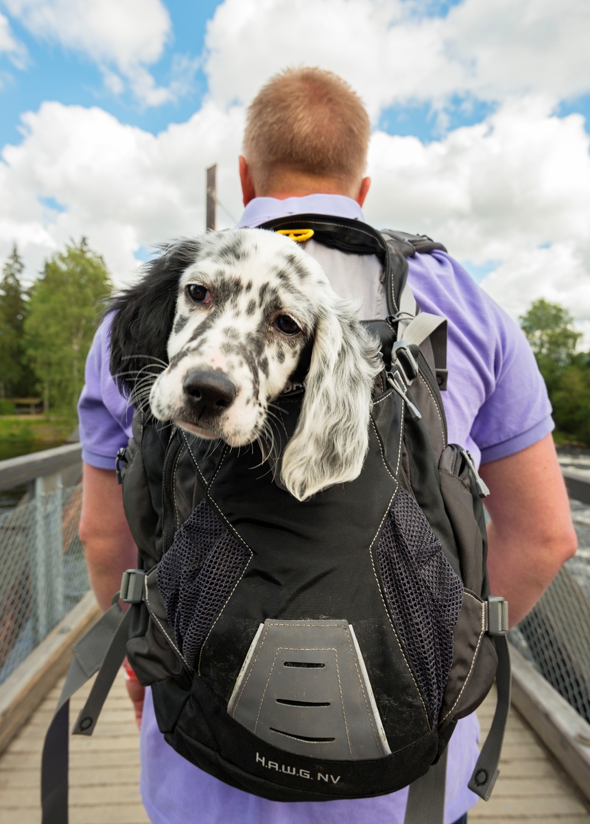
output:
[[[107,317],[100,324],[86,358],[78,419],[82,460],[98,469],[114,470],[118,450],[131,437],[133,407],[110,373],[110,322]]]

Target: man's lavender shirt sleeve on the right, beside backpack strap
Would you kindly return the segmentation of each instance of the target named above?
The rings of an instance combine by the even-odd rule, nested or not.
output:
[[[476,463],[520,452],[553,429],[545,382],[518,324],[443,251],[408,260],[422,311],[448,321],[448,440]]]

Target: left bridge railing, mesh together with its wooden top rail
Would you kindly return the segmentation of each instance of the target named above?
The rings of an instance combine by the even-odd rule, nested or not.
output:
[[[90,588],[80,444],[0,461],[0,491],[23,485],[20,503],[0,513],[0,683]]]

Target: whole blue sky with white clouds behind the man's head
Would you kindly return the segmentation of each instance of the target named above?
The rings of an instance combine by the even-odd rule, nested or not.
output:
[[[443,241],[513,316],[548,297],[590,335],[588,42],[587,0],[0,0],[0,256],[17,242],[35,277],[84,234],[128,279],[202,231],[211,162],[237,216],[244,105],[319,65],[374,123],[370,222]]]

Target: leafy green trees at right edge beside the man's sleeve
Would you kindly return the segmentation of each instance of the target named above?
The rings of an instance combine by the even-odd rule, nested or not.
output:
[[[538,300],[520,318],[545,378],[559,433],[590,444],[590,355],[576,351],[581,334],[557,303]]]

